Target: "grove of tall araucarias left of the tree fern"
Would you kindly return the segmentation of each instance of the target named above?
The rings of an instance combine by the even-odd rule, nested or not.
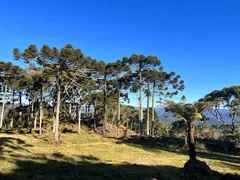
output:
[[[1,86],[13,94],[11,108],[6,108],[6,98],[1,102],[0,128],[33,127],[42,134],[43,121],[52,119],[56,143],[59,143],[60,122],[78,122],[80,133],[83,119],[87,119],[93,129],[101,126],[104,135],[107,122],[117,127],[128,125],[141,135],[154,135],[158,119],[156,97],[173,97],[184,89],[181,77],[175,72],[164,71],[161,61],[151,55],[133,54],[105,63],[84,56],[80,49],[70,44],[61,49],[43,45],[40,50],[30,45],[24,51],[15,48],[13,55],[26,68],[0,64]],[[129,93],[137,92],[138,111],[122,105],[123,101],[130,100]],[[16,95],[19,98],[15,99]],[[144,95],[147,97],[145,111]],[[7,91],[3,96],[7,96]],[[23,104],[22,98],[28,104]],[[16,100],[18,104],[14,105]]]

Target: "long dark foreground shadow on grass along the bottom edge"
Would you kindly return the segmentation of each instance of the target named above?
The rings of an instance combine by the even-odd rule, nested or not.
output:
[[[54,154],[52,157],[56,157]],[[22,157],[23,158],[23,157]],[[61,160],[60,160],[60,159]],[[136,164],[106,164],[94,156],[79,156],[80,161],[57,155],[57,159],[26,157],[15,159],[16,169],[10,174],[0,175],[0,179],[81,179],[81,180],[180,180],[192,179],[184,175],[181,168],[173,166],[146,166]],[[68,161],[66,161],[68,159]],[[96,162],[97,161],[97,162]],[[215,174],[211,177],[196,175],[194,179],[222,179],[224,176]],[[234,176],[231,176],[231,178]],[[239,178],[236,176],[234,179]],[[233,179],[233,178],[232,178]]]

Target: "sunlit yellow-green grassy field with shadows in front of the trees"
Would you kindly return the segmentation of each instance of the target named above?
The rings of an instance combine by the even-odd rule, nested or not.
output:
[[[181,168],[188,156],[176,146],[172,152],[171,147],[147,146],[146,140],[121,141],[88,131],[62,134],[61,139],[55,145],[51,136],[1,133],[0,178],[186,179]],[[198,155],[215,171],[240,175],[237,155],[207,151]]]

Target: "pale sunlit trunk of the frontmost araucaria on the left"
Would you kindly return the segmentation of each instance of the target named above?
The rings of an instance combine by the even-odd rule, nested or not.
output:
[[[58,131],[59,131],[60,105],[61,105],[61,84],[58,84],[57,109],[56,109],[55,134],[54,134],[55,143],[59,143],[59,132]]]

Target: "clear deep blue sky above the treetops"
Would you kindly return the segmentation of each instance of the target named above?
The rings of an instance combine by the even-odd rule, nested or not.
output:
[[[32,43],[70,43],[106,62],[157,55],[190,102],[240,84],[239,0],[1,0],[0,42],[3,61]]]

